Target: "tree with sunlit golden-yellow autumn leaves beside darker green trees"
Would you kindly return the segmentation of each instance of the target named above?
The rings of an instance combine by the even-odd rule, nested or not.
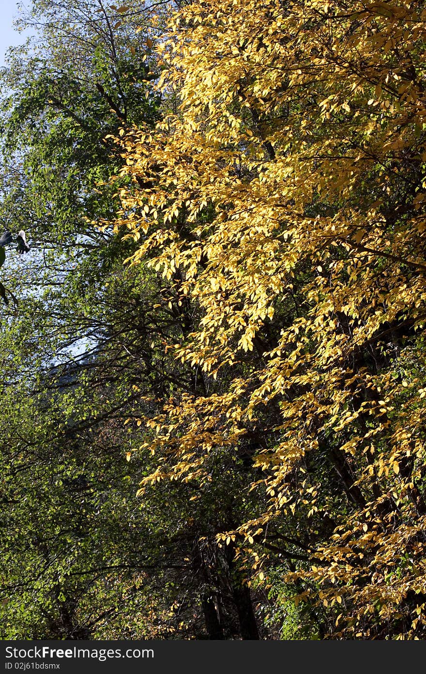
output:
[[[424,5],[196,0],[157,47],[177,113],[119,141],[116,226],[197,307],[166,348],[204,382],[145,420],[142,488],[263,435],[269,505],[218,540],[262,579],[274,522],[310,532],[287,580],[332,638],[425,634]]]

